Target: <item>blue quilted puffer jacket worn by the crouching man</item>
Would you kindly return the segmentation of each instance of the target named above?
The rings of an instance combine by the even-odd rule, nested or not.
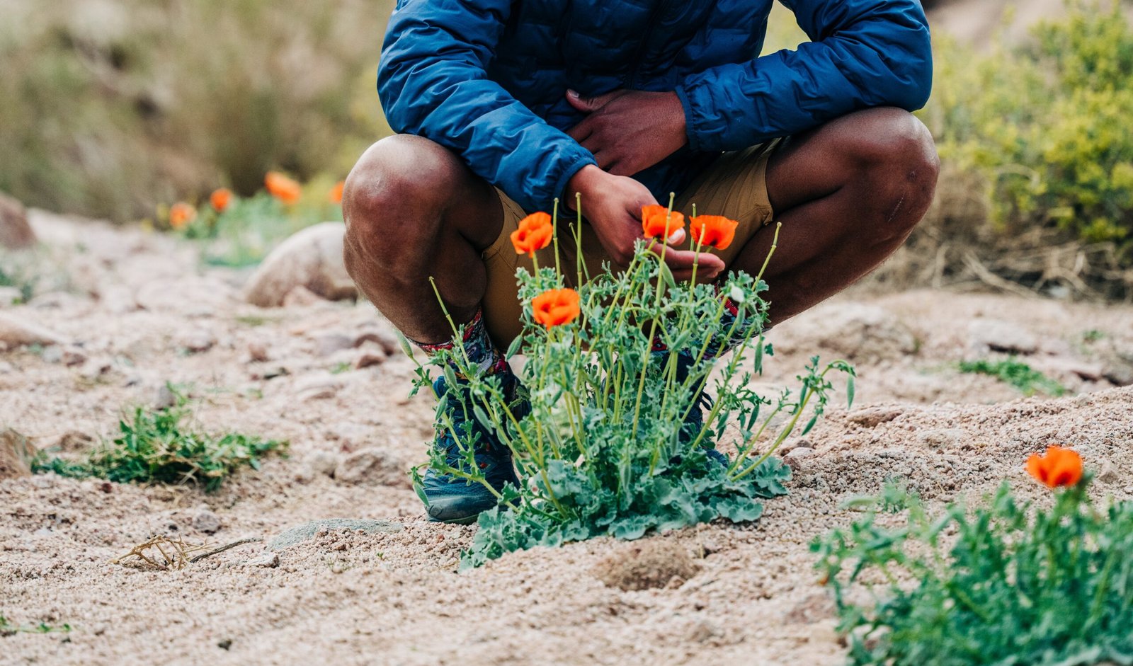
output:
[[[378,66],[390,127],[446,146],[526,211],[594,156],[564,99],[675,91],[689,144],[634,176],[659,200],[722,151],[928,100],[919,0],[781,0],[811,42],[758,57],[773,0],[398,0]]]

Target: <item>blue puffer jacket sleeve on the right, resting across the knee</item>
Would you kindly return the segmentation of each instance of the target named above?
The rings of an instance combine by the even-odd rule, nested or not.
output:
[[[932,87],[919,0],[780,0],[811,39],[688,76],[676,89],[689,144],[734,151],[869,106],[920,109]]]

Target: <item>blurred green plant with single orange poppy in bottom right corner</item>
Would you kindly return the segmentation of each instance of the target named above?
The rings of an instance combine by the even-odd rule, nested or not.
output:
[[[863,518],[811,545],[850,663],[1133,664],[1133,503],[1094,506],[1081,475],[1049,477],[1070,487],[1046,510],[1007,484],[939,515],[897,486],[860,501]]]

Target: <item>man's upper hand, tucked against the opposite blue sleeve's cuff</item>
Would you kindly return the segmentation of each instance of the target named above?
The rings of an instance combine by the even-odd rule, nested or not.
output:
[[[614,91],[581,97],[566,91],[566,101],[589,113],[566,134],[614,176],[644,171],[689,142],[684,108],[676,93]]]

